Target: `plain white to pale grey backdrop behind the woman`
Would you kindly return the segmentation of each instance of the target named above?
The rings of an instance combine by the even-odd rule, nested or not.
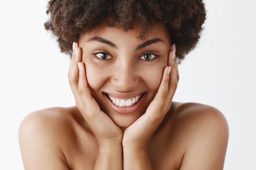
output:
[[[218,108],[229,124],[224,170],[256,170],[252,0],[205,0],[202,38],[180,64],[174,100]],[[0,2],[0,170],[24,170],[18,128],[34,110],[74,106],[69,58],[45,31],[47,0]]]

